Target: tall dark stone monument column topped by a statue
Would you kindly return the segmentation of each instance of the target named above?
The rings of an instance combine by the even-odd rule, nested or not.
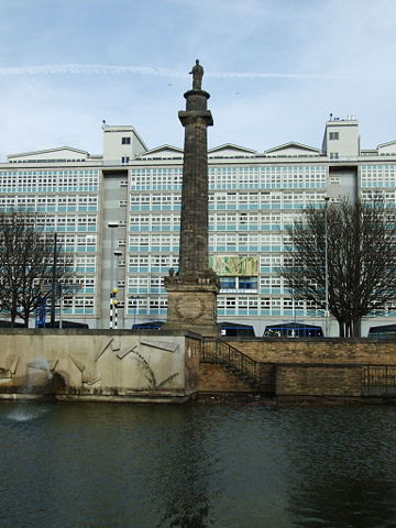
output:
[[[209,267],[208,255],[208,142],[213,124],[207,109],[209,94],[201,88],[204,68],[196,61],[193,89],[186,91],[186,110],[178,113],[185,128],[182,187],[179,270],[165,277],[168,294],[165,330],[191,330],[217,336],[219,282]]]

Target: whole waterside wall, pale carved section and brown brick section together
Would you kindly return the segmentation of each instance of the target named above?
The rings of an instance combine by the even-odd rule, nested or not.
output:
[[[394,365],[381,383],[391,380],[396,391],[395,342],[227,342],[257,361],[258,391],[267,395],[359,397],[366,365]],[[215,350],[213,342],[205,346]],[[188,332],[0,329],[0,398],[23,393],[29,383],[42,384],[46,376],[43,364],[53,380],[50,392],[64,399],[184,402],[197,392],[257,391],[220,364],[201,362],[204,359],[201,339]]]

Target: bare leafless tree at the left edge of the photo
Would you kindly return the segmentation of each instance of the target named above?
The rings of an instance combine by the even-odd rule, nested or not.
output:
[[[35,215],[0,213],[0,306],[11,326],[20,317],[28,327],[35,310],[55,301],[55,285],[69,265],[59,252],[55,234],[45,233]]]

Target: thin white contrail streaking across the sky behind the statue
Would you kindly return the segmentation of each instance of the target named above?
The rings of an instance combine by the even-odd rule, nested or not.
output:
[[[0,76],[18,75],[124,75],[139,74],[161,77],[185,77],[185,72],[156,68],[154,66],[111,66],[107,64],[52,64],[43,66],[0,67]],[[212,78],[284,78],[284,79],[330,79],[337,78],[329,74],[288,74],[264,72],[206,72]]]

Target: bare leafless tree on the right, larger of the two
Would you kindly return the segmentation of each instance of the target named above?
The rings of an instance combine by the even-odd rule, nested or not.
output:
[[[328,307],[341,337],[359,337],[362,317],[395,301],[396,215],[383,201],[311,207],[287,232],[289,264],[279,274],[295,298]]]

